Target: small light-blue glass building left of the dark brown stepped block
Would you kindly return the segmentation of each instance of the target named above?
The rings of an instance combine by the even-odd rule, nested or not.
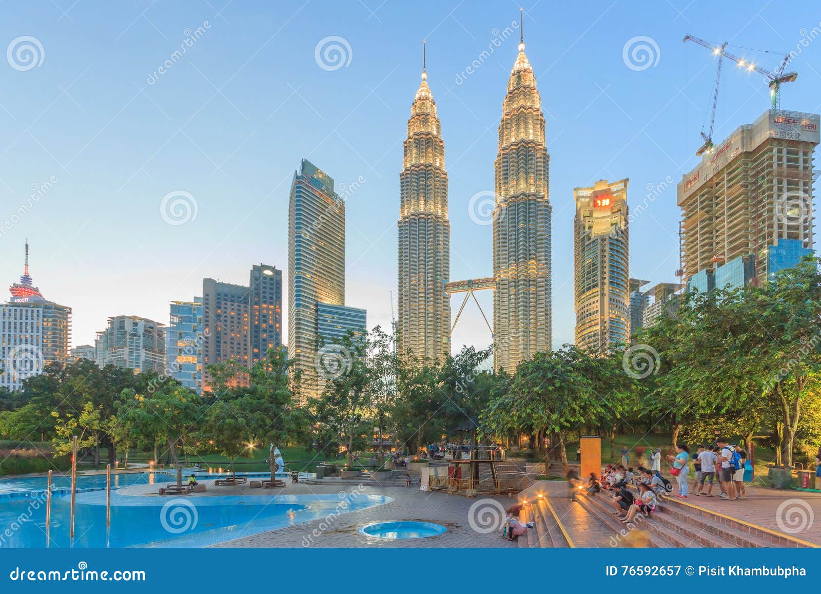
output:
[[[171,302],[165,333],[165,375],[202,394],[203,299]]]

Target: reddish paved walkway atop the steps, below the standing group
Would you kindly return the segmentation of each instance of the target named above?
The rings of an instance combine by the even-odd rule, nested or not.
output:
[[[746,500],[690,495],[686,501],[821,545],[821,493],[749,485],[746,489]]]

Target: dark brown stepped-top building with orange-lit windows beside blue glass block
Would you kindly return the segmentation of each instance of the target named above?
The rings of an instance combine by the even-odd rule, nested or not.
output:
[[[203,279],[202,386],[209,390],[208,366],[239,361],[250,368],[282,345],[282,270],[259,264],[248,286]]]

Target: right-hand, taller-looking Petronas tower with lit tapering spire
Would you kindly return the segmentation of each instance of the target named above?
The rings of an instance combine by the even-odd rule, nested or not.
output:
[[[544,114],[525,44],[499,123],[493,210],[493,365],[511,373],[552,340],[551,216]]]

